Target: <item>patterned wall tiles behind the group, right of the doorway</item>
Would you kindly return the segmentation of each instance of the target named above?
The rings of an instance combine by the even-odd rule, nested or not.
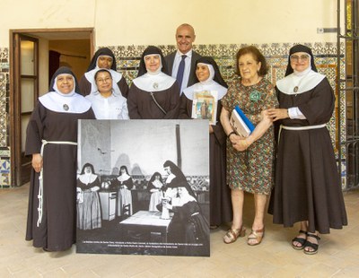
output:
[[[276,80],[282,79],[285,76],[285,69],[288,63],[288,50],[296,43],[274,43],[274,44],[261,44],[255,45],[264,56],[267,58],[269,65],[269,71],[267,79],[272,83],[276,83]],[[337,74],[337,43],[303,43],[310,47],[313,51],[313,55],[316,57],[316,65],[320,74],[325,74],[328,77],[329,83],[332,88],[336,90],[336,74]],[[248,46],[246,44],[230,44],[230,45],[195,45],[194,49],[202,56],[213,56],[217,62],[221,74],[224,80],[228,81],[232,79],[235,68],[235,54],[238,49]],[[128,83],[132,83],[132,80],[136,78],[137,70],[139,66],[139,60],[142,56],[144,49],[147,46],[119,46],[109,47],[117,57],[118,71],[124,74]],[[163,55],[166,56],[173,51],[176,51],[176,46],[159,46],[162,49]],[[341,44],[341,52],[345,53],[345,45]],[[345,75],[345,57],[341,57],[341,75]],[[336,91],[336,93],[338,93]],[[342,122],[340,123],[341,141],[345,141],[346,138],[346,101],[345,94],[341,95],[340,112]],[[336,128],[336,115],[330,119],[328,123],[328,129],[334,148],[337,150],[337,128]],[[338,141],[338,140],[337,140]],[[346,157],[346,148],[342,147],[342,156]]]

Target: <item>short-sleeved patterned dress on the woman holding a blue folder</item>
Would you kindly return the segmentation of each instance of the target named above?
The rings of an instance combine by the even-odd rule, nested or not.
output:
[[[223,97],[223,108],[230,111],[238,105],[254,126],[260,122],[262,110],[277,108],[278,100],[272,83],[265,78],[251,86],[237,77],[229,83]],[[227,139],[227,184],[252,194],[268,195],[274,181],[274,127],[244,152],[238,152]]]

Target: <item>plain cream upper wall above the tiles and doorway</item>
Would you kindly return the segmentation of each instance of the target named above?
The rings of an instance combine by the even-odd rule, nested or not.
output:
[[[10,29],[82,27],[95,29],[95,46],[168,45],[182,22],[197,44],[336,41],[317,28],[337,27],[337,1],[2,0],[0,47]]]

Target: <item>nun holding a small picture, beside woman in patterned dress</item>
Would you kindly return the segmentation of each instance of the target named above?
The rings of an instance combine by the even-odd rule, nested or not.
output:
[[[223,223],[232,221],[231,190],[227,187],[225,178],[227,137],[219,120],[222,109],[219,100],[227,93],[228,86],[221,76],[218,65],[210,56],[203,56],[197,60],[196,76],[197,83],[185,89],[180,97],[179,118],[193,118],[192,108],[196,92],[209,91],[212,95],[217,95],[215,123],[209,125],[210,224],[211,229],[215,229]]]

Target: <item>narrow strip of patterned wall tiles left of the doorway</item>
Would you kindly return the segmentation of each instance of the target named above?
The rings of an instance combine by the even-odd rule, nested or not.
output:
[[[9,51],[0,48],[0,188],[11,187],[9,118]]]

